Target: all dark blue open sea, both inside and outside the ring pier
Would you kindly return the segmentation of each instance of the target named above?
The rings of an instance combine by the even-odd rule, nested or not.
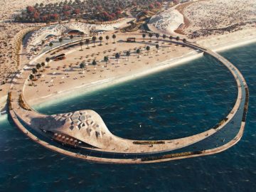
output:
[[[233,148],[161,164],[90,164],[34,144],[4,120],[0,122],[0,190],[255,191],[255,51],[253,44],[221,53],[240,69],[250,89],[245,134]],[[228,70],[203,57],[37,110],[54,114],[92,109],[119,137],[170,139],[215,125],[233,107],[236,94]]]

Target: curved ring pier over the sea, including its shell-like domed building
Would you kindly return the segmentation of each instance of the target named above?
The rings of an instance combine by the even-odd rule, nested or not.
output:
[[[177,41],[171,43],[187,46],[212,56],[230,70],[237,83],[238,97],[233,109],[223,121],[206,132],[180,139],[138,141],[123,139],[112,134],[100,115],[92,110],[54,115],[40,114],[29,107],[22,98],[21,85],[27,79],[26,70],[21,70],[11,85],[9,113],[16,126],[33,141],[60,154],[87,161],[143,164],[215,154],[230,148],[240,140],[245,128],[249,97],[245,79],[232,63],[218,53],[193,43]],[[21,107],[19,100],[22,100],[26,107]],[[203,148],[206,147],[204,145],[206,142],[223,137],[225,133],[228,133],[226,141],[215,144],[209,149]],[[193,149],[190,146],[194,146]]]

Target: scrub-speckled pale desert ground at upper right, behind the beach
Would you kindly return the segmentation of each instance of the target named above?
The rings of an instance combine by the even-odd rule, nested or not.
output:
[[[183,32],[190,38],[255,28],[255,0],[198,1],[186,7],[185,16],[190,25]]]

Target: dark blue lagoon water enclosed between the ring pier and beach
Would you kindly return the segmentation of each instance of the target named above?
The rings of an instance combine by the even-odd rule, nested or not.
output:
[[[202,57],[146,78],[36,109],[46,114],[92,109],[119,137],[174,139],[213,127],[230,112],[236,97],[231,73],[215,59]]]

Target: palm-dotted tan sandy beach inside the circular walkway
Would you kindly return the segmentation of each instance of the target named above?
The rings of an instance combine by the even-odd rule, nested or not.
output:
[[[140,38],[141,34],[133,35]],[[176,65],[177,62],[188,60],[187,55],[193,55],[194,51],[190,48],[183,48],[182,46],[169,45],[169,43],[162,44],[159,42],[159,51],[156,50],[156,40],[149,43],[149,40],[137,43],[125,43],[125,36],[121,33],[117,33],[117,43],[109,43],[109,45],[99,46],[96,48],[86,49],[87,46],[80,47],[75,50],[68,50],[65,53],[66,59],[58,62],[52,61],[50,63],[50,69],[47,69],[43,73],[41,78],[36,81],[36,87],[26,86],[24,88],[24,97],[29,104],[36,104],[44,100],[48,100],[49,97],[62,95],[65,92],[71,92],[72,90],[80,90],[82,92],[95,90],[106,85],[115,84],[117,82],[123,82],[132,78],[137,78],[142,75],[146,75],[155,72],[160,69],[164,69],[168,65]],[[145,46],[151,46],[149,52],[145,50]],[[118,48],[118,51],[117,51]],[[136,53],[136,50],[141,48],[142,53]],[[97,49],[97,53],[95,53]],[[129,60],[125,53],[127,50],[131,51]],[[120,53],[121,57],[117,61],[114,58],[115,53]],[[86,55],[85,55],[86,54]],[[106,63],[103,60],[104,55],[108,55],[110,61]],[[33,61],[33,63],[41,63],[48,55],[43,55],[39,60]],[[186,58],[181,60],[181,58]],[[75,62],[74,62],[75,60]],[[92,66],[92,60],[97,60],[97,65]],[[86,67],[81,72],[79,64],[85,61]],[[174,61],[174,62],[171,62]],[[72,65],[70,65],[72,63]],[[31,66],[32,67],[32,66]],[[63,68],[65,67],[65,68]],[[27,82],[26,84],[30,84]],[[46,89],[46,86],[49,86]],[[75,88],[76,87],[76,88]],[[47,90],[47,91],[45,91]]]

